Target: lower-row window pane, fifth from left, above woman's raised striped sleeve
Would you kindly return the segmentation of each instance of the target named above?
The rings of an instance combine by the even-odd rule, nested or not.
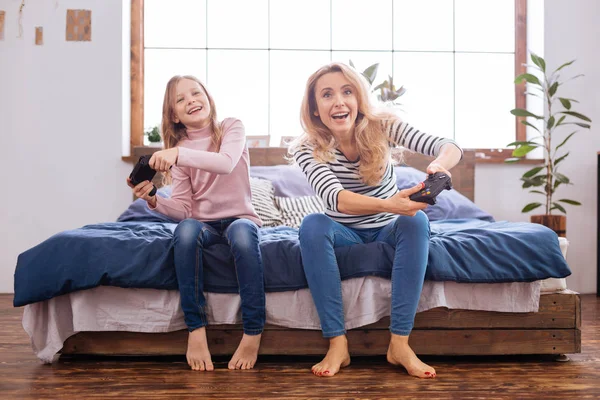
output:
[[[406,93],[398,98],[400,115],[415,128],[440,137],[454,136],[452,54],[396,53],[394,82]]]

